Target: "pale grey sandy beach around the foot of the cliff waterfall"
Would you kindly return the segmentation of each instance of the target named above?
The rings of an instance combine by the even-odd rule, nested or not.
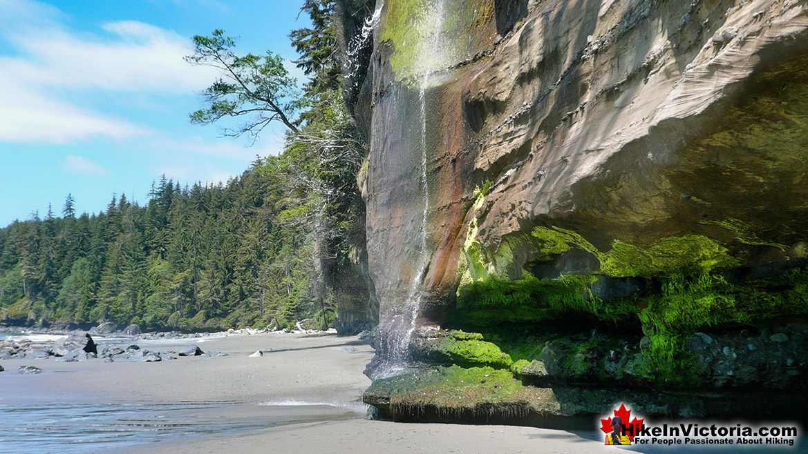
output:
[[[103,340],[101,341],[103,342]],[[139,341],[166,351],[197,343],[229,356],[187,357],[156,363],[89,360],[4,360],[0,404],[20,402],[196,405],[194,418],[215,427],[210,435],[170,436],[116,452],[608,452],[600,434],[535,427],[409,424],[364,418],[362,374],[372,358],[356,337],[256,334],[176,341]],[[343,351],[343,348],[348,351]],[[271,349],[250,357],[257,350]],[[356,351],[351,351],[356,349]],[[23,375],[23,364],[43,369]],[[221,405],[219,405],[221,404]],[[191,411],[191,410],[187,410]],[[594,427],[593,427],[594,429]],[[12,442],[13,445],[13,442]],[[8,444],[0,447],[9,448]],[[87,444],[86,452],[109,452]],[[613,449],[613,448],[612,448]],[[648,448],[632,447],[640,452]],[[655,449],[662,452],[664,449]],[[12,448],[9,452],[20,452]]]

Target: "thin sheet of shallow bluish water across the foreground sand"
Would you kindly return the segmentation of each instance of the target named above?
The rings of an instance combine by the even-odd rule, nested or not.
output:
[[[360,417],[356,408],[284,403],[0,404],[0,452],[112,452],[168,439]]]

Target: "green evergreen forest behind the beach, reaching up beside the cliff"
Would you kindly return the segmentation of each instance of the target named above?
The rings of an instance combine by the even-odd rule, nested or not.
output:
[[[302,10],[312,26],[290,38],[310,81],[285,87],[284,152],[256,156],[226,183],[163,176],[143,206],[112,195],[98,214],[78,215],[68,194],[61,213],[0,229],[0,323],[214,331],[338,317],[335,269],[364,248],[356,175],[366,149],[343,101],[335,2]]]

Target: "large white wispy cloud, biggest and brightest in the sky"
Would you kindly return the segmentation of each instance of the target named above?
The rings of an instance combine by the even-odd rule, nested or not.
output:
[[[29,0],[0,0],[0,17],[0,140],[61,144],[149,134],[80,106],[82,93],[192,94],[216,77],[183,60],[190,40],[146,23],[79,32],[65,26],[61,11]]]

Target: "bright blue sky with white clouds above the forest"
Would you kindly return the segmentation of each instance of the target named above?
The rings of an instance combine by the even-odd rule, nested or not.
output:
[[[162,174],[226,182],[280,152],[283,127],[247,138],[191,125],[214,69],[191,66],[193,35],[219,28],[237,51],[276,52],[302,85],[288,33],[303,0],[0,0],[0,227],[48,204],[98,213],[113,194],[144,205]]]

